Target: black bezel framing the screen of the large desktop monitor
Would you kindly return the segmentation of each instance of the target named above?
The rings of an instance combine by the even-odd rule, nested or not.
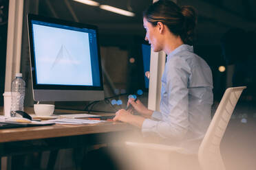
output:
[[[98,39],[98,27],[96,25],[88,25],[85,23],[76,23],[73,21],[64,21],[61,19],[54,19],[47,16],[39,16],[36,14],[28,14],[28,35],[29,35],[29,45],[30,45],[30,66],[32,72],[32,85],[33,89],[49,89],[49,90],[103,90],[103,74],[101,67],[101,59],[100,59],[100,45]],[[35,62],[34,62],[34,43],[32,39],[32,20],[43,21],[46,23],[54,23],[59,25],[67,25],[70,27],[78,27],[78,28],[87,28],[96,30],[96,40],[97,40],[97,48],[98,48],[98,66],[100,73],[100,86],[76,86],[76,85],[58,85],[58,84],[36,84],[36,70]]]

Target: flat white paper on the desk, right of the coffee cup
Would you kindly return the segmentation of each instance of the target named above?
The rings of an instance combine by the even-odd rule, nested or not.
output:
[[[70,124],[70,125],[81,125],[81,124],[94,124],[94,123],[100,123],[103,121],[100,120],[86,120],[86,119],[53,119],[48,120],[47,122],[52,122],[56,124]]]

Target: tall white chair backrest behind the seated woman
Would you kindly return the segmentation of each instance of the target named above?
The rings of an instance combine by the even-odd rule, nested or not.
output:
[[[246,86],[226,89],[198,151],[198,160],[203,170],[225,170],[220,142],[244,88]]]

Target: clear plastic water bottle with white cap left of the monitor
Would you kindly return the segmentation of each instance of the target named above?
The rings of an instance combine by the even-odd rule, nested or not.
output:
[[[25,82],[22,80],[22,73],[16,73],[12,80],[12,106],[10,116],[15,117],[17,110],[24,111]]]

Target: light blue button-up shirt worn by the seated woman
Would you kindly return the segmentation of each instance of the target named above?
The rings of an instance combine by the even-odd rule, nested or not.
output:
[[[193,47],[180,45],[167,56],[162,75],[160,112],[145,119],[142,132],[196,153],[211,121],[213,77]]]

